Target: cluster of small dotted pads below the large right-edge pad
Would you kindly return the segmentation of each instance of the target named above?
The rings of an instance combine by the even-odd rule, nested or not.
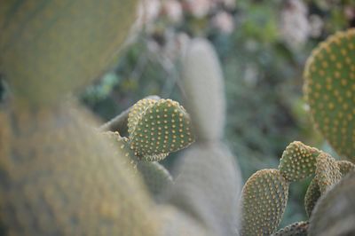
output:
[[[350,161],[335,161],[328,153],[292,142],[282,153],[278,169],[262,169],[252,175],[241,193],[241,235],[270,235],[280,224],[288,201],[290,183],[313,177],[304,197],[304,207],[311,216],[319,197],[332,185],[355,169]],[[289,225],[276,235],[289,230],[304,231],[305,223]]]

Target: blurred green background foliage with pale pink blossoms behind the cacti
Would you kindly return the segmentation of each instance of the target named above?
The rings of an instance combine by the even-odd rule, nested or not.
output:
[[[172,22],[162,6],[154,20],[144,23],[114,70],[83,91],[83,102],[106,121],[148,95],[181,101],[176,51],[185,39],[204,36],[215,45],[222,62],[228,102],[226,141],[244,179],[258,169],[277,168],[282,151],[294,140],[331,153],[312,128],[302,97],[302,73],[316,43],[355,26],[355,3],[243,0],[232,6],[216,4],[201,17],[183,2],[178,2],[183,6],[180,20]],[[213,24],[220,12],[233,20],[233,32]],[[298,27],[303,28],[294,29],[289,19],[299,20]],[[292,35],[293,31],[301,35]],[[280,227],[306,219],[303,202],[309,182],[290,186]]]

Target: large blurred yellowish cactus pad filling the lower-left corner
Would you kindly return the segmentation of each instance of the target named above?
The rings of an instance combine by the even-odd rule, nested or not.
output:
[[[143,182],[78,107],[13,107],[5,125],[12,154],[0,156],[0,218],[8,234],[158,234]]]

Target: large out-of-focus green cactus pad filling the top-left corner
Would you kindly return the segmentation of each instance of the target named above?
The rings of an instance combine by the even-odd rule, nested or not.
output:
[[[97,78],[128,35],[136,2],[0,1],[0,69],[16,98],[51,104]]]

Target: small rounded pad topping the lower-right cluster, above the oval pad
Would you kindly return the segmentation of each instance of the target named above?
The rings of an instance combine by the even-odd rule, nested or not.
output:
[[[318,155],[317,148],[306,146],[298,141],[292,142],[282,153],[280,173],[290,182],[309,177],[314,174]]]

